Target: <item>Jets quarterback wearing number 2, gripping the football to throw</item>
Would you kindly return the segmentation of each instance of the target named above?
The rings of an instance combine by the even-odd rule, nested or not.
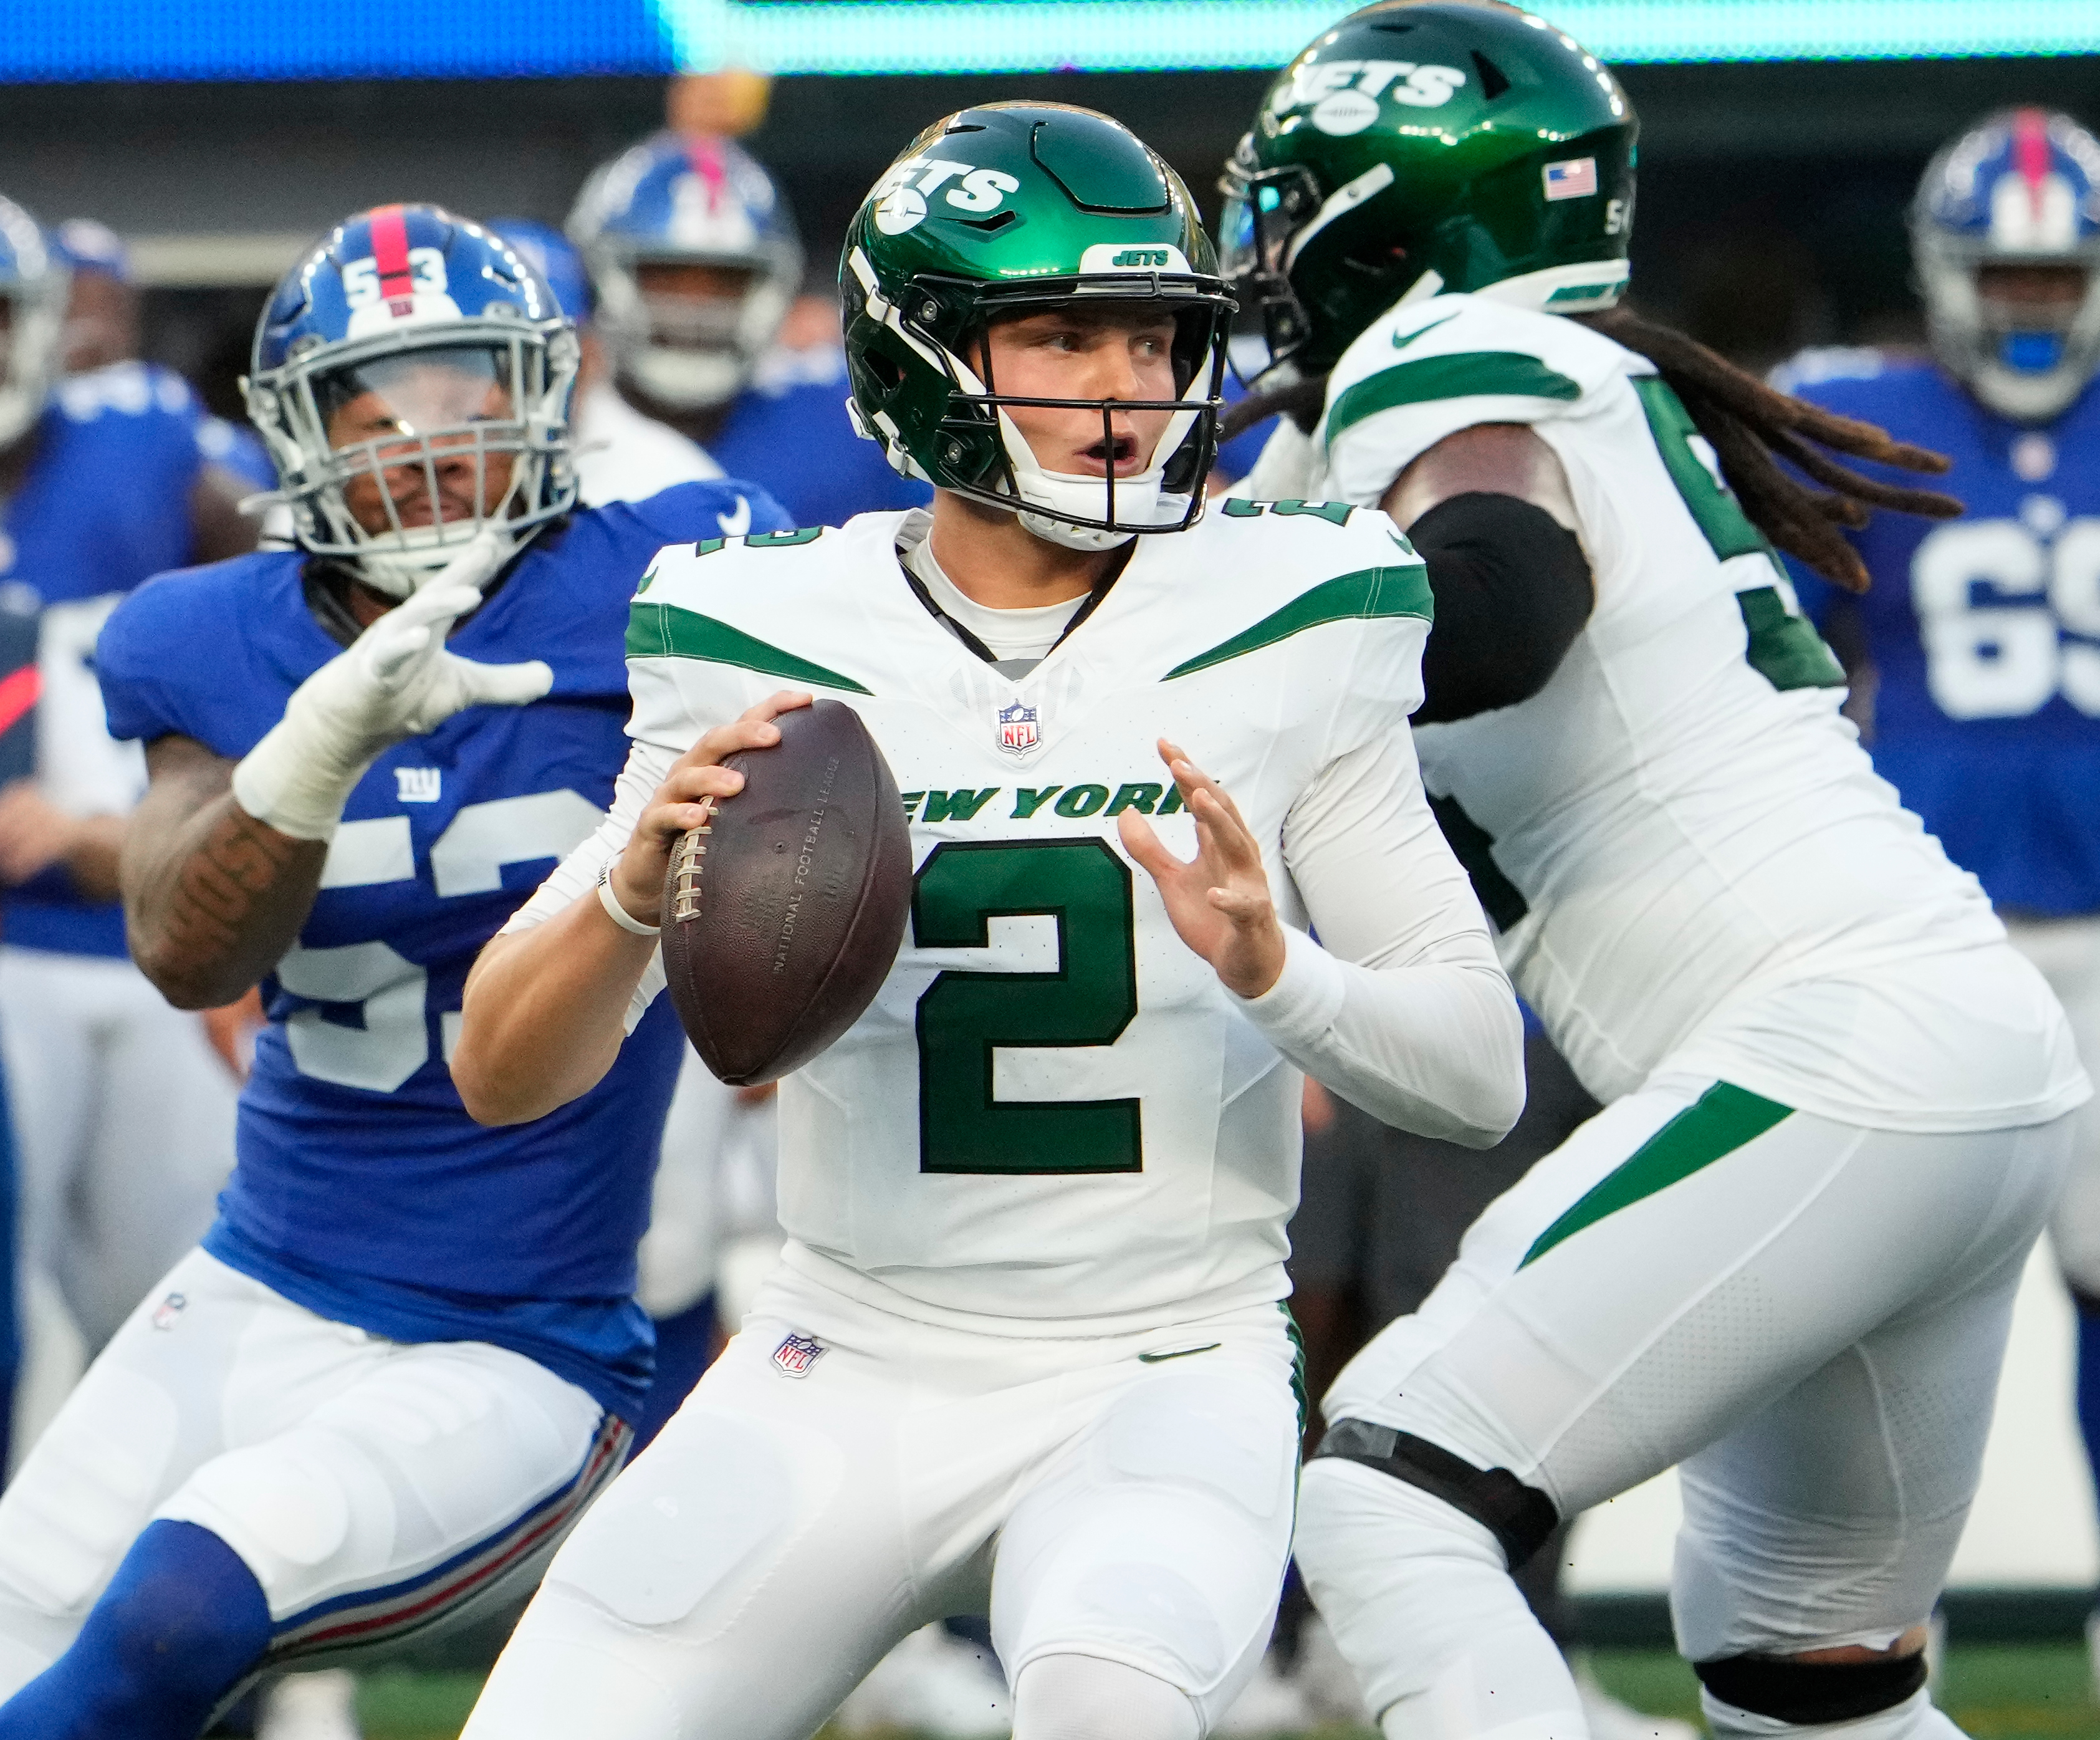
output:
[[[1522,1097],[1409,740],[1422,565],[1378,509],[1203,513],[1231,303],[1172,170],[968,109],[844,282],[859,418],[934,506],[659,555],[613,813],[479,962],[454,1074],[489,1120],[596,1078],[662,988],[670,843],[808,693],[899,778],[911,927],[781,1086],[783,1265],[475,1740],[794,1740],[960,1612],[1021,1740],[1199,1740],[1289,1551],[1300,1070],[1472,1145]]]

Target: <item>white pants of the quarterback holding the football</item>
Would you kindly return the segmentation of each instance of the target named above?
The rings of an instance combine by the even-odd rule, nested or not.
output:
[[[777,1269],[554,1559],[466,1740],[804,1740],[901,1637],[987,1610],[1016,1732],[1088,1706],[1048,1666],[1079,1656],[1186,1711],[1134,1698],[1130,1734],[1193,1740],[1268,1641],[1294,1372],[1277,1305],[1050,1341]]]

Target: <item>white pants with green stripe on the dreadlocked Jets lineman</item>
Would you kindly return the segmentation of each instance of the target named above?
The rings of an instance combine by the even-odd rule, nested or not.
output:
[[[1793,1112],[1743,1139],[1735,1093],[1636,1093],[1583,1124],[1323,1412],[1508,1469],[1564,1517],[1682,1465],[1688,1660],[1888,1648],[1961,1536],[2073,1120],[1911,1135]],[[1390,1736],[1586,1734],[1485,1526],[1319,1456],[1296,1551]]]

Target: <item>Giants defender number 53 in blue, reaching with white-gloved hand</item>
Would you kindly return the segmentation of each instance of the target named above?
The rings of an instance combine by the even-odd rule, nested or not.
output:
[[[676,1023],[529,1128],[445,1059],[466,967],[620,763],[626,595],[737,483],[575,511],[575,334],[487,229],[342,223],[256,328],[298,551],[103,628],[151,788],[132,950],[183,1009],[262,986],[239,1162],[0,1496],[0,1736],[193,1740],[265,1669],[529,1580],[649,1383],[632,1303]]]

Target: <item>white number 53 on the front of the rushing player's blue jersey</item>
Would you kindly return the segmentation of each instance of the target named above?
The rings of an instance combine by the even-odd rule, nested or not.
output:
[[[439,897],[494,893],[506,864],[561,859],[598,826],[590,799],[559,790],[462,805],[430,847]],[[405,815],[344,822],[328,849],[323,889],[376,887],[416,878]],[[430,975],[382,941],[346,948],[296,946],[277,962],[277,983],[326,1009],[298,1009],[284,1028],[302,1076],[336,1086],[395,1093],[430,1061],[424,1013]],[[458,1011],[439,1011],[445,1055]]]

